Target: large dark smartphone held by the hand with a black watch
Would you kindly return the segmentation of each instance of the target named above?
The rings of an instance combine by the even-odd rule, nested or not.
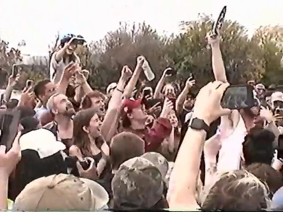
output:
[[[229,86],[221,99],[221,106],[229,109],[252,108],[257,105],[253,87],[249,85]]]

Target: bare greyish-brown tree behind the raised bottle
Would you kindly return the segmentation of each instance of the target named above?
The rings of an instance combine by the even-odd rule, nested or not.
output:
[[[124,65],[134,69],[138,55],[148,59],[156,74],[156,80],[151,82],[155,85],[161,71],[168,65],[165,43],[166,38],[160,37],[145,22],[120,23],[119,29],[107,33],[102,40],[88,47],[87,68],[92,70],[92,87],[104,90],[110,82],[117,81]]]

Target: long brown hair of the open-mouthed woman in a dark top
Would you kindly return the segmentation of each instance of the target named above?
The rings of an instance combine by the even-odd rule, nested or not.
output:
[[[74,131],[73,131],[73,143],[79,149],[84,155],[91,156],[91,149],[90,149],[90,139],[88,137],[88,134],[83,131],[83,126],[88,127],[90,125],[90,119],[94,116],[94,114],[97,114],[98,117],[100,117],[100,113],[98,110],[95,109],[87,109],[87,110],[81,110],[78,112],[74,119]]]

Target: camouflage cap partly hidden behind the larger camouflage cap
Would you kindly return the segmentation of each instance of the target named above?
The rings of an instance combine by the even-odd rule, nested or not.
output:
[[[147,153],[144,153],[141,157],[152,162],[153,165],[156,166],[158,170],[160,171],[162,179],[163,180],[165,179],[165,176],[168,171],[168,161],[163,155],[157,152],[147,152]]]

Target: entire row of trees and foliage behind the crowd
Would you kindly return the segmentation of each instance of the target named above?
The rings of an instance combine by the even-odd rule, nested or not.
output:
[[[180,22],[179,35],[158,35],[143,23],[121,23],[116,31],[110,31],[102,40],[76,50],[83,69],[90,71],[89,82],[94,89],[105,91],[106,86],[120,77],[121,69],[128,65],[133,70],[138,55],[144,55],[156,75],[148,85],[155,87],[163,70],[174,67],[178,73],[171,81],[184,85],[192,73],[198,81],[196,89],[213,80],[211,49],[206,34],[211,30],[211,17],[201,14],[198,20]],[[247,80],[278,84],[282,80],[282,36],[279,27],[260,27],[250,39],[247,29],[237,22],[227,20],[221,30],[221,52],[228,80],[232,84],[242,84]],[[49,76],[49,61],[58,46],[59,33],[46,63],[31,63],[25,72],[35,81]],[[281,44],[281,46],[280,46]],[[18,50],[7,52],[8,43],[0,43],[0,87],[6,83],[12,64],[22,60]],[[3,77],[2,77],[3,76]],[[280,77],[281,76],[281,77]],[[142,74],[141,81],[145,76]]]

